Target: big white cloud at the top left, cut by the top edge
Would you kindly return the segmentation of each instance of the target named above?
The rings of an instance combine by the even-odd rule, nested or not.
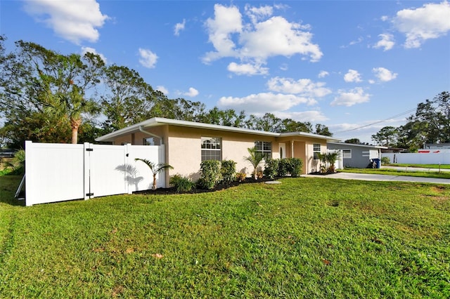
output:
[[[108,15],[101,13],[95,0],[27,0],[25,11],[74,44],[83,40],[96,42],[100,36],[97,28],[108,20]]]

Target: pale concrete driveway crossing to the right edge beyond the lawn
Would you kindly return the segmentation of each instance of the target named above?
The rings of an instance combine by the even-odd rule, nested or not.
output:
[[[366,173],[334,173],[332,175],[302,175],[309,178],[340,178],[345,180],[385,180],[397,182],[432,182],[435,184],[450,184],[445,178],[420,178],[404,175],[373,175]]]

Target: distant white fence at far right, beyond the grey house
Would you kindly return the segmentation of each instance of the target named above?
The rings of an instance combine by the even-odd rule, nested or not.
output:
[[[390,163],[399,164],[450,164],[450,152],[383,153],[381,157],[388,157]]]

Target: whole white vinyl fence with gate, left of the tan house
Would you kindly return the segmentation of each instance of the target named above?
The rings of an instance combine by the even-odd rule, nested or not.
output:
[[[79,145],[25,142],[25,204],[131,194],[153,185],[150,168],[135,158],[165,162],[164,145]],[[165,187],[165,173],[157,175]]]

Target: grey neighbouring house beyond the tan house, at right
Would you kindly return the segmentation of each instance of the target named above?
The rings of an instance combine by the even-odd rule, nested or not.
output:
[[[328,142],[328,150],[341,150],[344,167],[366,168],[371,159],[381,159],[381,150],[387,147],[378,145],[356,145],[354,143]]]

